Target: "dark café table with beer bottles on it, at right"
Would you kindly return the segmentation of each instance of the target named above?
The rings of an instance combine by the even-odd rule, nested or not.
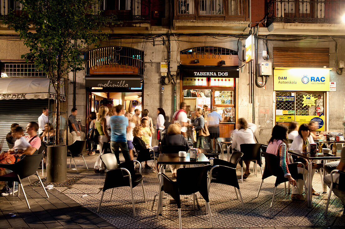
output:
[[[324,155],[324,154],[314,154],[302,153],[301,150],[289,150],[288,153],[304,158],[308,162],[308,178],[307,178],[307,203],[308,207],[312,207],[312,167],[315,160],[340,160],[341,150],[337,151],[336,156]],[[325,175],[325,171],[324,171]],[[310,179],[309,179],[310,178]],[[322,181],[323,182],[323,181]]]

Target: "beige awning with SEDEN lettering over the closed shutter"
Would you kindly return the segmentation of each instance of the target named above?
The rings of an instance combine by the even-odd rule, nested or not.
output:
[[[53,85],[45,77],[0,78],[0,100],[53,99],[55,94]],[[61,88],[60,98],[65,101],[65,86]]]

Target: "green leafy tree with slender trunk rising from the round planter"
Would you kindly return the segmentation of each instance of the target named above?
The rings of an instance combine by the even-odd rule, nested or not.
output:
[[[30,48],[21,55],[33,61],[36,69],[45,72],[56,91],[55,136],[59,136],[60,89],[63,78],[71,71],[83,70],[81,49],[98,46],[107,35],[102,28],[114,22],[101,15],[100,0],[19,0],[22,14],[12,10],[2,22],[14,29]],[[18,10],[18,9],[16,9]],[[17,11],[18,12],[18,11]],[[56,137],[55,144],[59,144]]]

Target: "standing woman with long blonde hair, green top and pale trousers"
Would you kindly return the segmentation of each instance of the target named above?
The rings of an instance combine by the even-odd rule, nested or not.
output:
[[[100,106],[98,109],[98,114],[95,122],[95,128],[97,129],[99,136],[98,136],[98,144],[100,145],[100,152],[99,156],[96,159],[95,167],[93,170],[95,173],[104,173],[104,165],[101,161],[101,155],[103,154],[103,143],[109,142],[110,137],[107,132],[107,119],[106,116],[109,112],[108,107]]]

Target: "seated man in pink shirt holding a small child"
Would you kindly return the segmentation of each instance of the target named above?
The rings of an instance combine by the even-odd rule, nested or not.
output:
[[[12,159],[13,159],[13,156],[20,157],[22,155],[32,155],[34,152],[36,152],[41,147],[41,139],[36,134],[37,131],[38,131],[38,124],[36,122],[30,122],[27,125],[26,133],[28,133],[28,135],[25,136],[24,138],[29,145],[26,145],[27,146],[26,149],[20,149],[20,147],[22,147],[22,145],[25,144],[25,143],[23,143],[22,139],[20,139],[20,141],[18,142],[18,145],[20,145],[19,148],[13,147],[11,149],[12,151],[10,151],[10,153],[12,153],[12,156],[10,156],[10,157],[12,157]],[[23,134],[23,132],[21,132],[21,134]],[[19,134],[17,136],[19,136]],[[6,153],[8,153],[8,152],[6,152]],[[4,159],[4,158],[2,158],[2,159]],[[9,159],[9,158],[7,158],[7,159]],[[14,163],[14,161],[11,159],[8,160],[8,162]],[[5,162],[0,162],[0,163],[5,163]],[[4,170],[4,174],[9,174],[11,172],[12,172],[11,170]],[[12,185],[13,185],[13,183],[5,185],[3,187],[3,189],[0,190],[1,196],[8,196],[9,194],[11,194],[12,188],[13,188]],[[16,193],[17,191],[18,191],[18,183],[16,182],[15,187],[14,187],[14,193]]]

